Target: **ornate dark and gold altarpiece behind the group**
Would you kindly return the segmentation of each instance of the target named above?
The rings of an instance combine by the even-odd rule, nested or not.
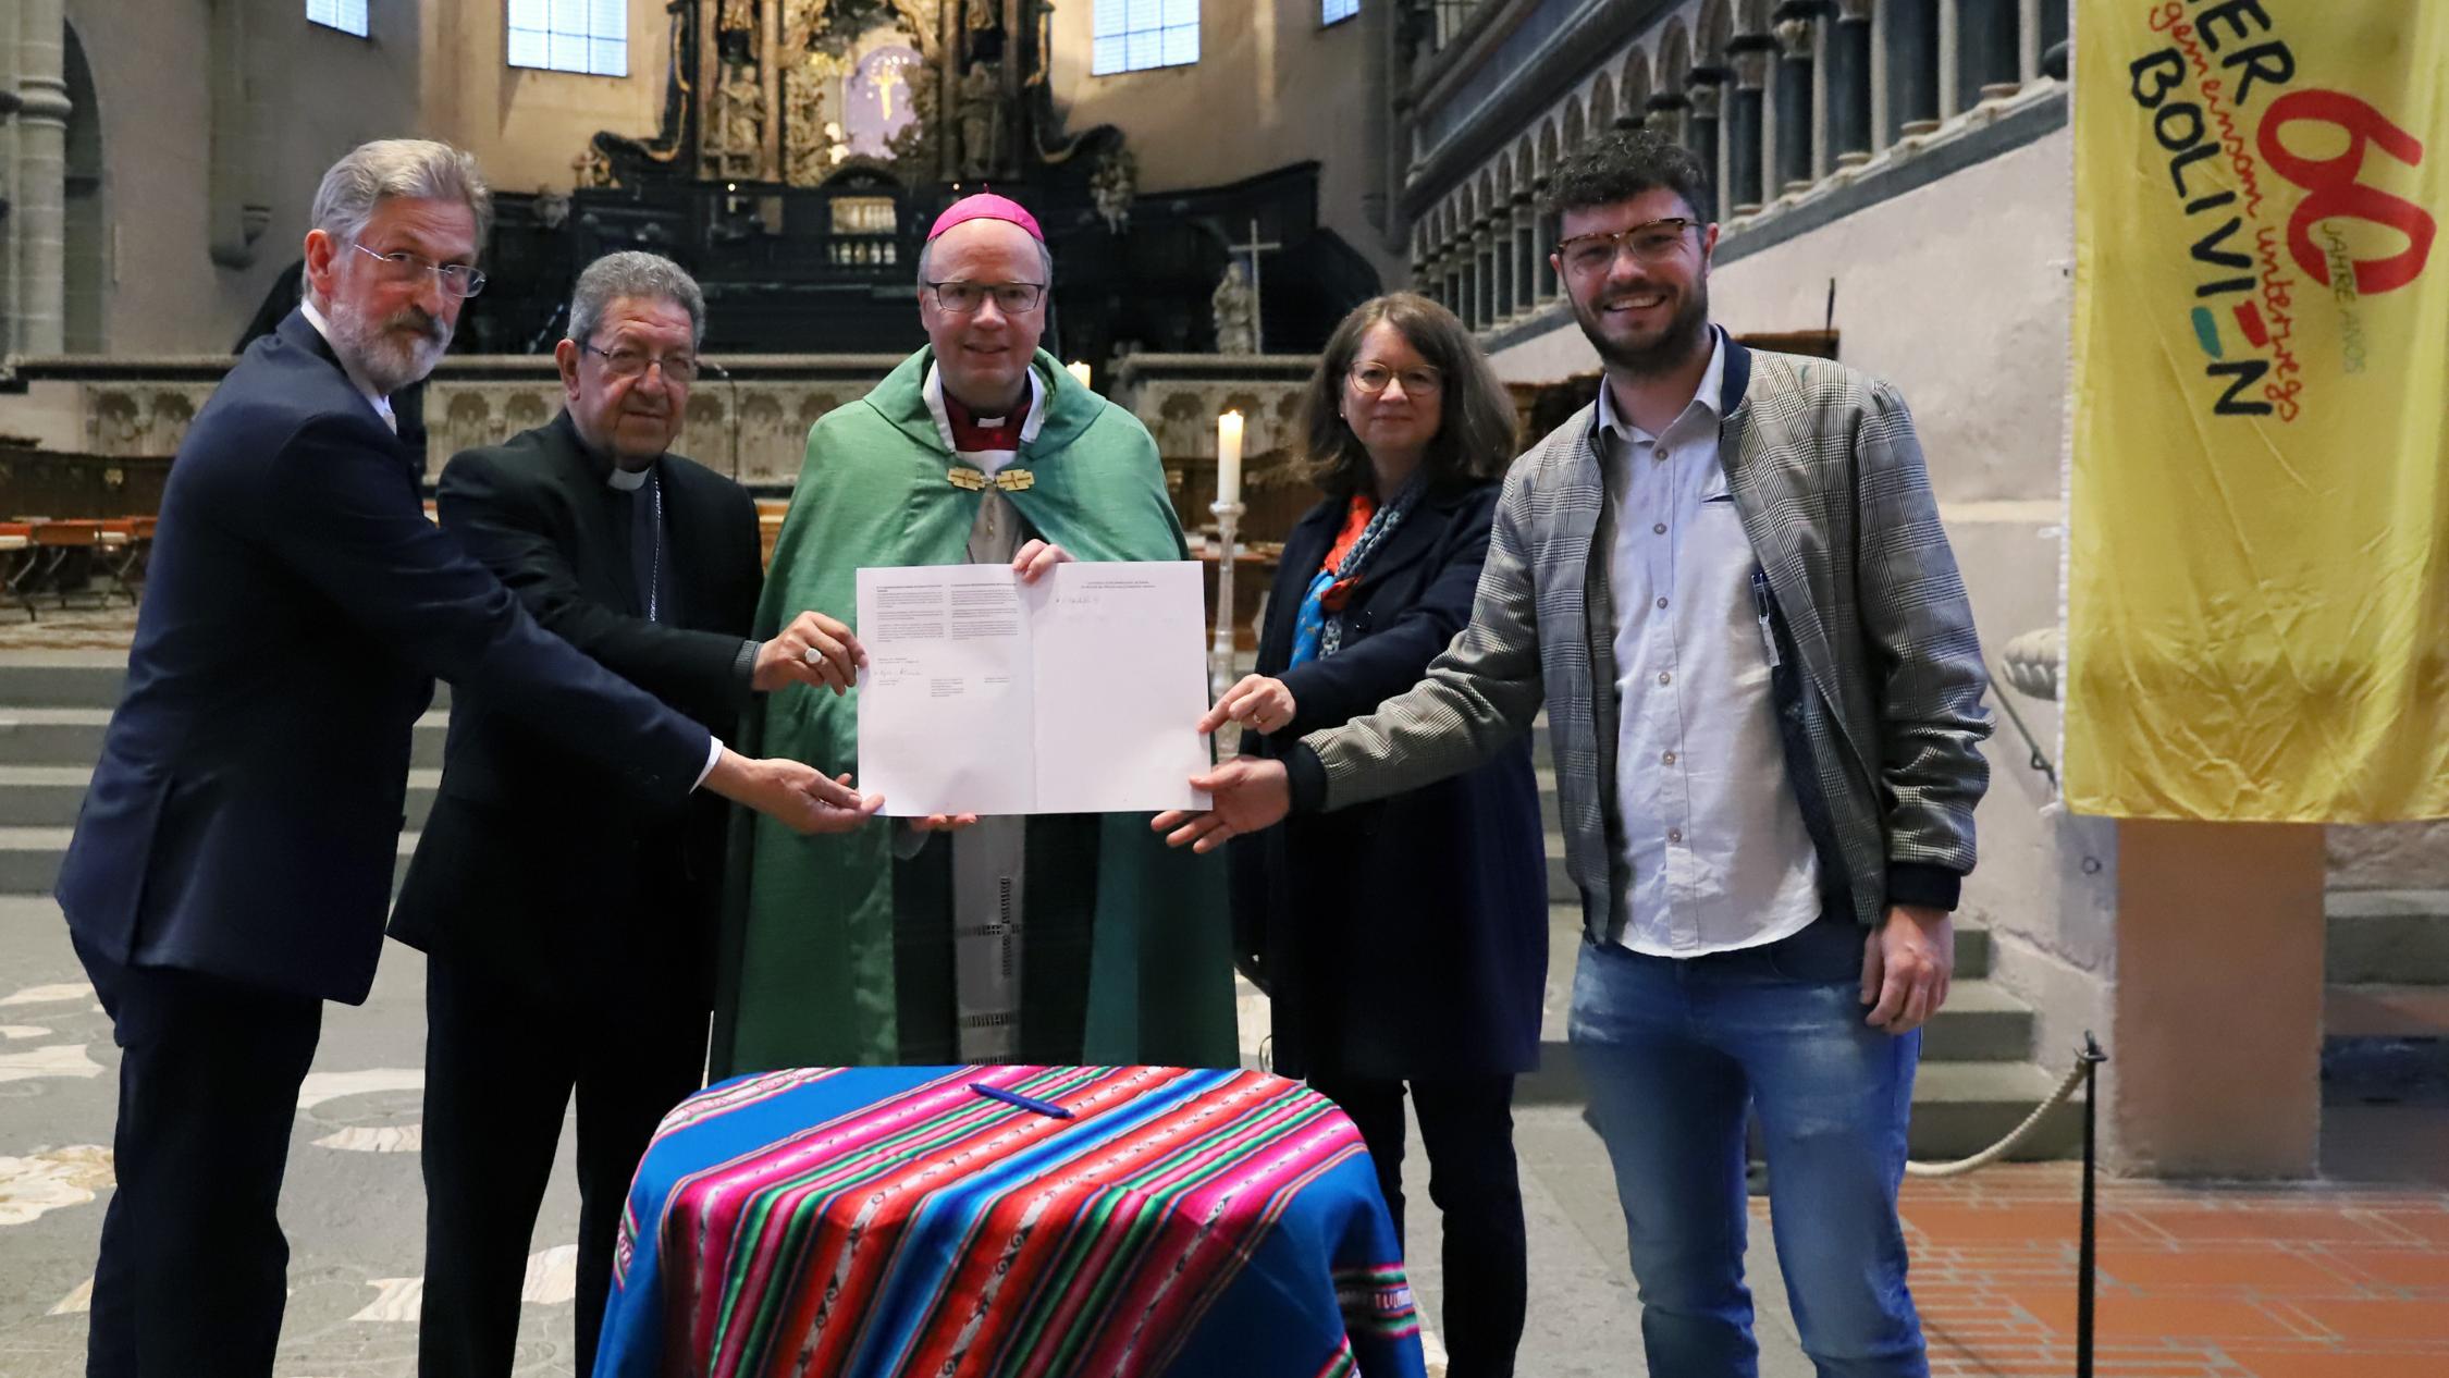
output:
[[[671,0],[656,127],[595,135],[568,196],[502,188],[492,284],[460,348],[551,348],[578,267],[644,247],[705,286],[710,355],[909,350],[926,228],[992,186],[1046,225],[1048,348],[1100,377],[1131,350],[1212,350],[1210,299],[1249,235],[1283,245],[1259,304],[1266,348],[1315,350],[1379,286],[1318,225],[1318,164],[1139,196],[1124,135],[1065,130],[1056,110],[1051,12],[1048,0]]]

